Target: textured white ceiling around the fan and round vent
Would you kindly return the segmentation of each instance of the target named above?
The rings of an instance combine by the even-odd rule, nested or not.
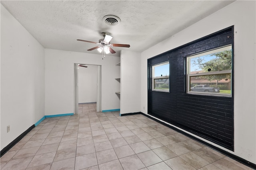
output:
[[[156,43],[202,20],[234,1],[8,1],[1,4],[45,48],[86,53],[96,45],[76,41],[98,42],[101,32],[113,36],[111,43],[130,44],[120,50],[142,52]],[[102,18],[118,16],[120,24],[106,25]],[[203,29],[203,28],[202,28]],[[18,38],[18,37],[17,37]]]

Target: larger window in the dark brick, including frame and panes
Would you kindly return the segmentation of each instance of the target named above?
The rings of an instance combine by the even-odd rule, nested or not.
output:
[[[187,57],[187,92],[231,96],[232,45]]]

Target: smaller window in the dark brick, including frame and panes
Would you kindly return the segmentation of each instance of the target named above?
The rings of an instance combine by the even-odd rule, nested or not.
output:
[[[152,90],[169,92],[169,62],[152,66]]]

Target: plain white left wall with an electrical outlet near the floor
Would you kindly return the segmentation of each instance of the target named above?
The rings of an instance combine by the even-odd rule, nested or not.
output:
[[[43,116],[44,47],[1,4],[1,150]]]

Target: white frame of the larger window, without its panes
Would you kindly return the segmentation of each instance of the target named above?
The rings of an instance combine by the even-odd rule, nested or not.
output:
[[[225,97],[232,97],[232,84],[233,84],[233,77],[232,77],[232,70],[233,70],[233,65],[232,65],[232,69],[231,70],[221,70],[221,71],[212,71],[212,72],[202,72],[202,73],[194,73],[194,74],[190,74],[190,59],[196,58],[196,57],[201,57],[204,55],[210,55],[213,53],[218,53],[221,51],[226,51],[226,50],[232,50],[232,44],[229,45],[225,45],[222,47],[218,47],[216,49],[211,49],[208,51],[204,51],[202,53],[197,53],[194,55],[190,55],[186,57],[186,69],[187,69],[187,75],[186,75],[186,90],[187,90],[187,94],[199,94],[199,95],[205,95],[205,96],[225,96]],[[233,55],[233,52],[232,52]],[[232,56],[232,60],[233,60],[233,56]],[[190,77],[196,77],[196,76],[206,76],[206,75],[217,75],[217,74],[231,74],[230,78],[231,78],[231,92],[230,94],[224,94],[224,93],[216,93],[216,92],[195,92],[195,91],[190,91]]]

